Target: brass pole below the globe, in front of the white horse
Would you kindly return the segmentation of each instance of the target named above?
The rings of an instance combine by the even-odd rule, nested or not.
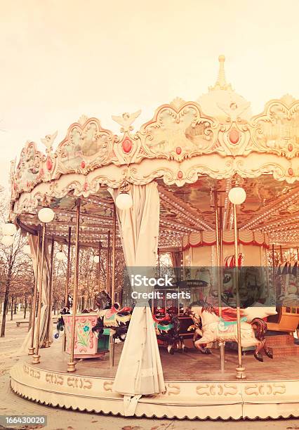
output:
[[[242,365],[242,346],[241,346],[241,318],[240,318],[240,296],[239,296],[239,280],[238,280],[238,230],[237,230],[237,207],[235,204],[232,205],[234,208],[234,287],[236,289],[236,301],[237,301],[237,340],[238,340],[238,366],[236,367],[237,379],[245,379],[245,367]]]

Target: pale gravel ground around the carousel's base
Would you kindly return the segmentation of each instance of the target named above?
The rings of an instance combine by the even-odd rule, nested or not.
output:
[[[9,369],[20,358],[16,351],[27,333],[27,327],[16,327],[15,321],[22,320],[22,314],[14,315],[14,321],[7,321],[6,337],[0,338],[0,415],[46,415],[47,430],[193,430],[193,429],[263,429],[299,430],[298,419],[268,419],[266,421],[188,421],[177,419],[140,419],[113,417],[86,412],[55,409],[29,402],[15,395],[9,386]],[[298,394],[299,395],[299,394]],[[0,429],[41,429],[42,426],[11,426]]]

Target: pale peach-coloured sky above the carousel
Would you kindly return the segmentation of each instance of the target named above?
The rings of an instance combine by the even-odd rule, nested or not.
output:
[[[115,133],[111,115],[142,109],[136,126],[175,96],[196,100],[227,82],[254,114],[299,98],[298,0],[0,1],[0,184],[25,141],[84,114]]]

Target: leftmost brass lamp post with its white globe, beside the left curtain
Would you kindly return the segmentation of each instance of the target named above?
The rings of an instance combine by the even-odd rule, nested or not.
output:
[[[45,239],[46,239],[46,223],[51,223],[55,216],[54,211],[50,207],[43,207],[39,210],[39,221],[43,224],[43,232],[41,238],[41,276],[39,278],[39,305],[37,308],[37,326],[36,326],[36,339],[35,339],[35,353],[32,363],[39,364],[41,362],[39,355],[39,332],[41,328],[41,301],[43,294],[43,277],[44,277],[44,256],[45,256]]]

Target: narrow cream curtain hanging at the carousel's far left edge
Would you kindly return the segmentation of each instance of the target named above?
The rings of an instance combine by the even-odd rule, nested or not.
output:
[[[41,245],[39,247],[38,244],[38,237],[34,235],[29,235],[28,239],[31,255],[32,255],[32,264],[33,264],[33,270],[34,270],[34,278],[36,277],[36,261],[37,261],[37,254],[40,252],[39,256],[39,279],[37,282],[37,289],[39,291],[39,285],[41,281],[41,264],[43,263],[41,261]],[[48,239],[45,238],[45,252],[44,252],[44,273],[43,273],[43,288],[42,288],[42,294],[41,294],[41,325],[39,330],[39,347],[41,347],[44,344],[44,341],[46,339],[46,330],[48,325],[48,298],[49,298],[49,288],[50,288],[50,269],[51,269],[51,262],[50,262],[50,255],[48,252]],[[37,302],[38,297],[36,297]],[[51,300],[52,301],[52,300]],[[49,332],[49,340],[52,341],[53,339],[53,324],[52,322],[49,325],[50,332]],[[36,342],[36,328],[37,328],[37,318],[35,318],[35,325],[34,325],[34,344]],[[19,353],[27,353],[28,348],[31,343],[31,333],[32,329],[29,330],[27,333],[27,336],[25,337],[24,342],[22,343],[22,346],[20,348]]]

